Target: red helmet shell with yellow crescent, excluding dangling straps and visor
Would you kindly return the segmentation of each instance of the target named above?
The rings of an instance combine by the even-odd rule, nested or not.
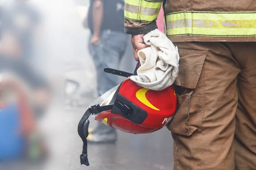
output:
[[[96,114],[95,120],[127,133],[151,133],[161,129],[172,119],[177,106],[173,86],[153,91],[126,79],[112,94],[107,103],[112,108]]]

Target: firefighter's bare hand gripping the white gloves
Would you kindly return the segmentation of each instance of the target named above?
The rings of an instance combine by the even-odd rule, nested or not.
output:
[[[139,61],[139,57],[138,57],[138,51],[143,49],[143,48],[147,48],[149,47],[149,45],[146,45],[143,41],[143,36],[144,34],[139,34],[139,35],[132,35],[131,36],[131,44],[133,47],[133,53],[134,53],[134,59]]]

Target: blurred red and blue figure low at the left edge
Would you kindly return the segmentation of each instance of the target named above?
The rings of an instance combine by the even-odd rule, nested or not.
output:
[[[45,156],[25,85],[0,74],[0,162],[38,161]]]

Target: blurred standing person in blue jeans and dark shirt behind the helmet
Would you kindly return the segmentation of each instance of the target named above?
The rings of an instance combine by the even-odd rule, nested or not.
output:
[[[101,96],[114,86],[119,79],[106,74],[104,68],[119,69],[128,35],[124,33],[124,0],[90,0],[88,26],[92,33],[90,44],[97,75],[97,91]],[[89,129],[88,142],[113,143],[117,139],[116,130],[99,123]]]

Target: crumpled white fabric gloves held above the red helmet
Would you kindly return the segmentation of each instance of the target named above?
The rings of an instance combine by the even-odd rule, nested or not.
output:
[[[143,40],[150,47],[138,51],[141,66],[130,79],[143,88],[163,90],[178,76],[178,48],[158,29],[145,34]]]

